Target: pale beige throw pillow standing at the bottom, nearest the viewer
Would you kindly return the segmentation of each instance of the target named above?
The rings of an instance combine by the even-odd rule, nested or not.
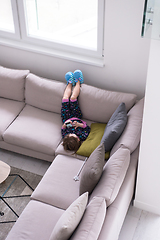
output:
[[[88,193],[84,193],[76,199],[58,220],[49,240],[68,240],[79,224],[87,202]]]

